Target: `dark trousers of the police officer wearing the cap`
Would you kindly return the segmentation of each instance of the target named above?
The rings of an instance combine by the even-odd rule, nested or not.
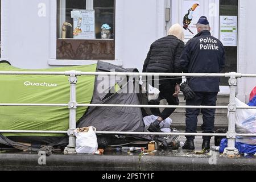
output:
[[[193,100],[186,101],[187,106],[216,106],[217,92],[195,92],[196,97]],[[203,133],[214,133],[214,119],[216,109],[186,109],[186,133],[196,133],[197,117],[203,114],[203,125],[201,130]],[[186,136],[187,139],[195,139],[192,136]],[[210,139],[211,137],[203,137]]]

